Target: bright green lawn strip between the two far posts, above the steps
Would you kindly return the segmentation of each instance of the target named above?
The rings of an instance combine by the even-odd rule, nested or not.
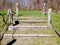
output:
[[[19,11],[19,16],[42,16],[40,11]]]

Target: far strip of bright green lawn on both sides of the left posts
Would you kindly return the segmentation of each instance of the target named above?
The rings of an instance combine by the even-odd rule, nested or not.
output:
[[[0,15],[7,15],[6,11],[0,11]],[[19,11],[18,16],[42,16],[40,11]]]

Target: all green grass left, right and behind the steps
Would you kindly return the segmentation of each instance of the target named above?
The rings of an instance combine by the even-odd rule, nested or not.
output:
[[[2,22],[2,15],[6,15],[7,13],[6,12],[1,12],[0,11],[0,27],[3,27],[4,23]],[[40,12],[40,11],[19,11],[19,16],[36,16],[36,17],[39,17],[39,16],[43,16],[43,14]],[[47,15],[45,15],[47,16]],[[7,17],[5,16],[5,19]],[[57,29],[57,31],[60,32],[60,14],[52,14],[51,15],[51,18],[52,18],[52,23],[54,25],[54,27]]]

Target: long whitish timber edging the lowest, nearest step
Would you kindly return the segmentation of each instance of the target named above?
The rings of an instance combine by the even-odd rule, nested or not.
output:
[[[11,37],[11,36],[12,34],[4,34],[4,37]],[[43,37],[43,36],[49,37],[49,36],[56,36],[56,35],[54,34],[14,34],[13,36],[15,37],[18,37],[18,36],[20,37]]]

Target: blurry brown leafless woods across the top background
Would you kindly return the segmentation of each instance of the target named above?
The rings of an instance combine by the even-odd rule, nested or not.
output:
[[[15,2],[19,3],[19,10],[40,10],[43,9],[43,4],[52,7],[53,11],[60,10],[60,0],[0,0],[0,10],[11,8],[15,10]]]

